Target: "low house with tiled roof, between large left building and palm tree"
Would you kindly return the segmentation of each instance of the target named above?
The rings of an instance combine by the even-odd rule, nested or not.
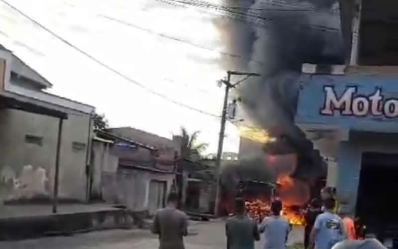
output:
[[[134,128],[97,131],[93,141],[91,193],[134,213],[153,215],[176,187],[180,145]]]

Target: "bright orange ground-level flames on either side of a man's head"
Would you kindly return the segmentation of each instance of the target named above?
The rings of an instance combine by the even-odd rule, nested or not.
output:
[[[270,204],[261,200],[255,200],[253,202],[246,202],[247,214],[257,221],[262,220],[264,217],[270,216]],[[305,218],[301,211],[295,211],[292,207],[283,206],[281,211],[282,217],[287,219],[292,225],[305,225]]]

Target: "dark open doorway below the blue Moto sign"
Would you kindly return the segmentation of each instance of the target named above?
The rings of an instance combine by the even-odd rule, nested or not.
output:
[[[381,241],[398,239],[397,189],[398,154],[363,153],[356,215]]]

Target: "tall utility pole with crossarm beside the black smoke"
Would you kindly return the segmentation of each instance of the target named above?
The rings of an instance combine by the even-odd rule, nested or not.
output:
[[[231,76],[232,75],[243,75],[246,76],[238,82],[231,84]],[[220,170],[221,170],[221,155],[222,155],[222,145],[224,143],[224,133],[225,133],[225,123],[227,121],[227,105],[228,105],[228,94],[230,88],[235,88],[241,82],[247,80],[250,76],[260,76],[260,74],[256,73],[243,73],[236,71],[227,71],[227,79],[221,80],[221,83],[225,85],[225,96],[224,96],[224,104],[222,106],[222,114],[221,114],[221,127],[220,133],[218,137],[218,149],[217,149],[217,158],[215,161],[215,176],[217,179],[216,182],[216,193],[215,193],[215,203],[214,203],[214,215],[218,217],[219,214],[219,202],[220,202]]]

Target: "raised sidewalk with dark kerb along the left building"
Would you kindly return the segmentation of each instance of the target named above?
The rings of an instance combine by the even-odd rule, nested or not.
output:
[[[57,214],[52,213],[50,204],[0,206],[0,240],[69,235],[128,225],[132,225],[132,220],[124,209],[106,204],[60,204]]]

